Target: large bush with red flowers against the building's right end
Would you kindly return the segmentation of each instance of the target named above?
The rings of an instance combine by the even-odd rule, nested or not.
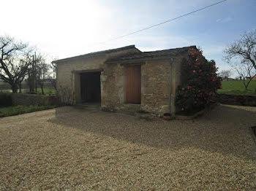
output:
[[[176,112],[191,114],[204,109],[216,99],[222,88],[214,61],[207,61],[201,50],[189,50],[189,58],[182,61],[181,85],[176,96]]]

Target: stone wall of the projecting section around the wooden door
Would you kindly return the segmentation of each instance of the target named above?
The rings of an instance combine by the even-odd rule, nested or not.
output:
[[[141,66],[141,104],[126,104],[125,98],[125,65],[107,64],[102,71],[102,108],[138,112],[143,110],[154,114],[169,112],[170,85],[173,91],[173,104],[175,89],[180,82],[181,59],[173,59],[172,79],[170,79],[170,61],[146,61],[136,63]],[[171,80],[171,82],[170,82]],[[175,108],[174,108],[175,112]]]

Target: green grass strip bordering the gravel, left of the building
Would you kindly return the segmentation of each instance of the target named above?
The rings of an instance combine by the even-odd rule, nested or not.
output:
[[[25,114],[30,112],[52,109],[55,106],[8,106],[0,108],[0,117],[7,117],[16,114]]]

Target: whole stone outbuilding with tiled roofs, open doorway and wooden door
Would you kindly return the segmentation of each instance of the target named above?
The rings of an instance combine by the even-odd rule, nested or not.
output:
[[[99,102],[110,111],[175,114],[181,61],[195,46],[141,52],[134,45],[53,61],[57,90],[69,104]]]

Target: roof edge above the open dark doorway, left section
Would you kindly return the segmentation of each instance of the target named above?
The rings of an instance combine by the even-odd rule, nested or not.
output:
[[[64,59],[60,59],[60,60],[57,60],[57,61],[53,61],[53,63],[60,63],[60,62],[63,62],[63,61],[72,61],[72,60],[76,60],[76,59],[79,59],[79,58],[88,58],[88,57],[95,56],[95,55],[103,55],[103,54],[106,54],[106,53],[118,52],[120,50],[128,50],[128,49],[131,49],[131,48],[135,48],[135,45],[129,45],[129,46],[126,46],[126,47],[119,47],[119,48],[110,49],[110,50],[102,50],[102,51],[98,51],[98,52],[91,52],[91,53],[88,53],[88,54],[85,54],[85,55],[77,55],[77,56],[74,56],[74,57],[64,58]]]

